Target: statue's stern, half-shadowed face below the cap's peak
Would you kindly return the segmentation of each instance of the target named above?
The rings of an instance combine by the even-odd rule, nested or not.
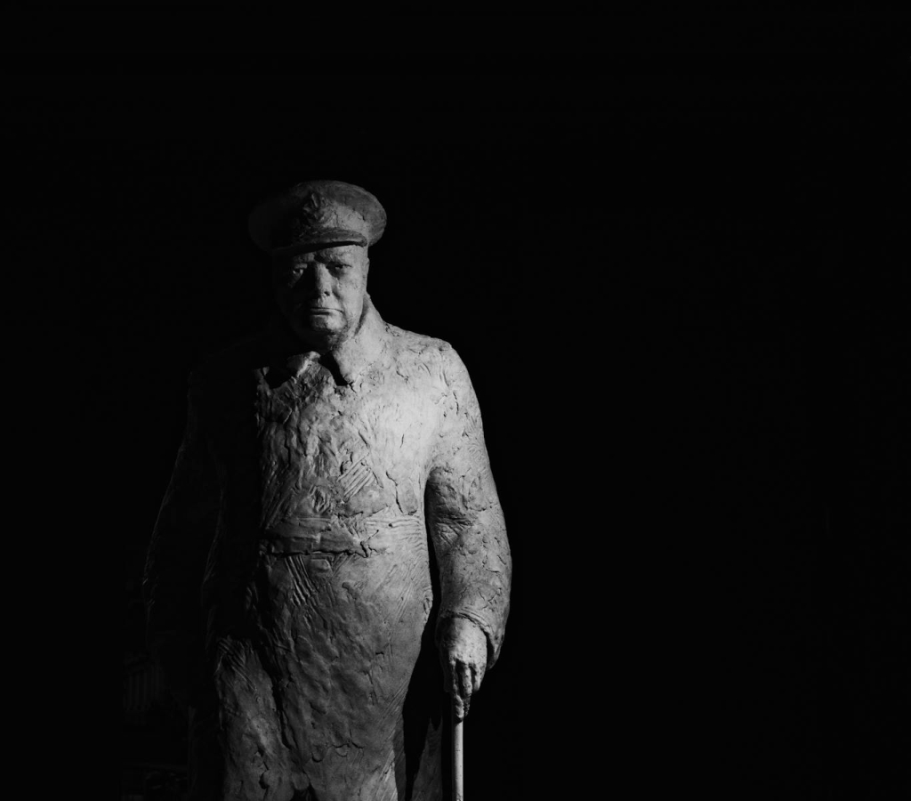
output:
[[[363,313],[369,264],[367,249],[360,245],[276,259],[275,300],[294,332],[316,347],[353,334]]]

